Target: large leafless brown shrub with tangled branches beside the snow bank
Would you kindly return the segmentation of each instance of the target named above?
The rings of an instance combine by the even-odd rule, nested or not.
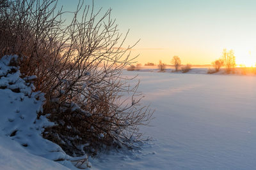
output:
[[[131,88],[122,76],[136,58],[130,57],[133,46],[122,47],[128,32],[118,32],[111,10],[101,14],[83,1],[64,22],[56,3],[16,0],[0,8],[1,57],[19,55],[22,76],[37,76],[36,90],[46,98],[38,117],[47,114],[56,124],[45,128],[44,138],[69,155],[132,146],[152,111],[140,106],[138,84]],[[122,94],[129,92],[126,99]]]

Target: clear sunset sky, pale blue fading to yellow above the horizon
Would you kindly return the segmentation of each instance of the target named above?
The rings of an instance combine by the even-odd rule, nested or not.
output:
[[[61,0],[74,10],[78,0]],[[85,1],[92,4],[92,1]],[[256,63],[256,1],[244,0],[94,0],[102,11],[112,8],[120,32],[129,31],[139,63],[211,64],[223,48],[234,50],[237,64]],[[125,47],[125,46],[124,46]]]

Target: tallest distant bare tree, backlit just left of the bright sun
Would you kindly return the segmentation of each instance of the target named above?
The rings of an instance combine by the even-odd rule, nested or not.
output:
[[[226,48],[223,49],[221,59],[223,60],[227,73],[234,70],[234,67],[236,67],[236,57],[233,50],[229,50],[229,52],[227,52]]]

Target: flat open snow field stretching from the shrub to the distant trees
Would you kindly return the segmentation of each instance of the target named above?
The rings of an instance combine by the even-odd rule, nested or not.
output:
[[[255,169],[255,76],[125,74],[139,74],[144,103],[156,109],[141,129],[152,141],[91,159],[92,169]]]

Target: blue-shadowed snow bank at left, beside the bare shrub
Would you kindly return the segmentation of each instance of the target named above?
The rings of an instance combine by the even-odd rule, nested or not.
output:
[[[66,169],[61,164],[76,169],[72,162],[77,164],[84,157],[72,158],[42,138],[44,127],[53,125],[37,114],[42,111],[44,94],[33,92],[31,81],[36,76],[20,78],[17,59],[17,55],[6,55],[0,60],[0,169]]]

